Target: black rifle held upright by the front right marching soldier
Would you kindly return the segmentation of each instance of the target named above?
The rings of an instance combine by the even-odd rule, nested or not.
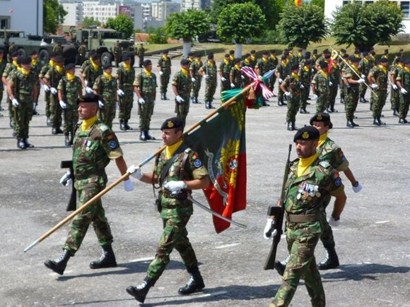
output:
[[[271,250],[269,251],[268,257],[266,258],[264,270],[274,270],[275,260],[276,260],[276,250],[278,249],[279,241],[281,241],[283,215],[285,214],[285,206],[283,205],[283,196],[285,194],[285,185],[288,180],[289,169],[291,169],[291,150],[292,144],[289,144],[288,159],[286,160],[285,173],[283,174],[281,197],[279,198],[279,205],[274,207],[268,207],[267,215],[275,216],[275,222],[272,224],[270,231],[276,230],[276,236],[272,240]],[[270,236],[271,234],[269,234]]]

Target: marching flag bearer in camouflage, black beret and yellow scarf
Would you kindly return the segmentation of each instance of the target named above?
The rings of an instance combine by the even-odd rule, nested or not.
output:
[[[153,171],[143,174],[141,169],[134,165],[127,170],[134,178],[150,185],[158,184],[160,187],[157,204],[164,227],[156,257],[148,266],[144,281],[136,287],[127,287],[128,294],[141,303],[144,303],[149,289],[163,274],[174,248],[180,253],[191,275],[187,284],[178,290],[178,294],[192,294],[205,287],[197,256],[187,237],[186,226],[193,212],[192,201],[187,199],[187,196],[193,189],[206,188],[209,185],[209,177],[197,152],[187,148],[184,143],[184,126],[185,122],[180,117],[164,121],[160,129],[166,148],[156,159]]]

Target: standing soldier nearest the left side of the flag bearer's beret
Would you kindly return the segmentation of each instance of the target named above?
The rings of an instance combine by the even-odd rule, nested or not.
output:
[[[156,103],[157,87],[157,78],[155,73],[152,72],[152,62],[151,60],[145,60],[144,71],[141,71],[134,80],[134,92],[138,97],[140,140],[155,140],[149,134],[149,128]]]

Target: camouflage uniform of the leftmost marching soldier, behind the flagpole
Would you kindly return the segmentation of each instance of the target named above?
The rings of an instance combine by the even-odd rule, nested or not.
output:
[[[73,145],[74,185],[78,191],[77,208],[102,191],[107,184],[105,167],[110,159],[122,156],[117,137],[105,124],[96,121],[87,131],[76,130]],[[110,224],[105,217],[101,198],[74,217],[63,249],[74,255],[93,224],[100,246],[112,243]]]

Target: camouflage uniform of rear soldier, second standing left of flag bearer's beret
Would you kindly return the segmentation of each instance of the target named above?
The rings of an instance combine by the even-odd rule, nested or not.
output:
[[[127,70],[124,66],[124,63],[119,64],[117,69],[117,80],[118,88],[124,92],[122,97],[119,97],[119,121],[124,121],[125,124],[128,124],[129,119],[131,118],[131,109],[134,104],[134,89],[132,83],[135,79],[135,68],[130,65]]]

